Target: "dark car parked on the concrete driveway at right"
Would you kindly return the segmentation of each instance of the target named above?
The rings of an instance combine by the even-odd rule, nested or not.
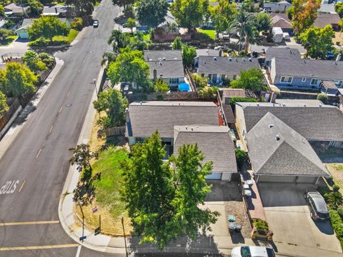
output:
[[[309,205],[310,216],[315,221],[324,221],[329,218],[329,211],[327,210],[327,203],[325,203],[323,196],[315,190],[306,191],[304,198]]]

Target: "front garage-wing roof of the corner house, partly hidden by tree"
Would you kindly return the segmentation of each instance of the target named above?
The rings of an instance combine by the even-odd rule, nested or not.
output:
[[[213,161],[212,172],[237,172],[234,143],[227,126],[174,126],[174,155],[185,143],[197,143],[204,162]]]

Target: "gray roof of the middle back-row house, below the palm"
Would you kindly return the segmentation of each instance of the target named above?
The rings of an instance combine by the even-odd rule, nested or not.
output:
[[[199,74],[239,75],[241,71],[252,68],[259,68],[256,58],[249,61],[249,58],[199,56]]]

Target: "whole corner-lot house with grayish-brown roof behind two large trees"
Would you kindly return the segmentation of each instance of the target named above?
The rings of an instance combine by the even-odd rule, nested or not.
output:
[[[133,145],[159,131],[166,157],[177,154],[184,143],[197,142],[205,161],[214,161],[213,174],[207,178],[230,180],[237,172],[234,143],[229,128],[219,126],[220,119],[213,102],[137,101],[126,111],[126,137]]]

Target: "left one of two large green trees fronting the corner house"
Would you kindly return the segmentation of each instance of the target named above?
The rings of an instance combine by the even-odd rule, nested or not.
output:
[[[164,246],[171,238],[174,211],[172,172],[161,145],[159,133],[131,148],[130,162],[123,163],[124,184],[121,196],[131,218],[134,233],[141,243]]]

